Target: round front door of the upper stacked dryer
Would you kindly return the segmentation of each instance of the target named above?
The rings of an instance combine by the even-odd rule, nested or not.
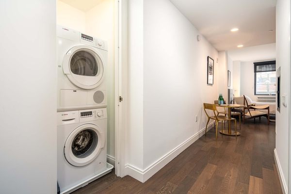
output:
[[[93,89],[103,81],[103,65],[97,49],[80,45],[65,54],[63,70],[74,85],[83,89]]]

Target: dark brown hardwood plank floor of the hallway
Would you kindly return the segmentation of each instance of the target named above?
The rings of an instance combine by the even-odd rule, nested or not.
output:
[[[241,133],[237,140],[219,134],[216,141],[210,129],[145,183],[112,172],[73,194],[282,194],[275,123],[248,120]]]

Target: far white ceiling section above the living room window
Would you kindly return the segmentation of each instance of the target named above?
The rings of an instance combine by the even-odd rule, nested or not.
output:
[[[276,58],[276,44],[266,44],[242,49],[228,50],[228,56],[233,61],[258,62]]]

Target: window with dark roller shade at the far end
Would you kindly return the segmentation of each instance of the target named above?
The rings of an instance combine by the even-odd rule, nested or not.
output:
[[[276,94],[276,61],[254,63],[255,95]]]

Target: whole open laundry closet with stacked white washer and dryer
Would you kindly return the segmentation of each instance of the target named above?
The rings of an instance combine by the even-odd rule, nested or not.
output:
[[[58,183],[71,193],[115,162],[115,1],[57,0]]]

